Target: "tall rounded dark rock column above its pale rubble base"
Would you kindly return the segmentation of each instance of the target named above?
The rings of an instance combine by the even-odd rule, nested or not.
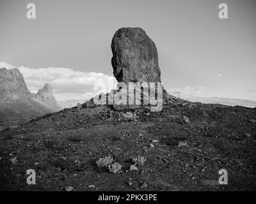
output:
[[[118,82],[161,82],[156,45],[143,29],[118,29],[111,49],[113,73]]]

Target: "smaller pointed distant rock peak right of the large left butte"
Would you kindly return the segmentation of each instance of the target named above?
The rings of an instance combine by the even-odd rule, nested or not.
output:
[[[51,84],[45,84],[44,88],[39,89],[35,99],[36,101],[44,103],[44,105],[48,105],[56,109],[61,109],[58,106],[56,99],[54,98]]]

